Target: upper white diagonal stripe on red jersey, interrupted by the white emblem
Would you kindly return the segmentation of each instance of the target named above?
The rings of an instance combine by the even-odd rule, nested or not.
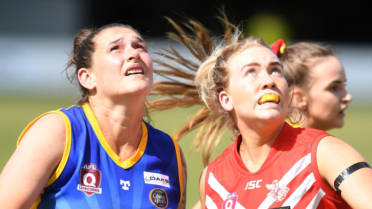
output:
[[[305,157],[301,158],[297,163],[295,163],[289,171],[284,174],[282,179],[279,181],[279,185],[287,186],[289,182],[291,182],[306,166],[311,163],[311,153],[305,155]],[[289,188],[291,189],[291,188]],[[265,200],[261,203],[258,209],[267,209],[274,203],[273,197],[266,197]]]

